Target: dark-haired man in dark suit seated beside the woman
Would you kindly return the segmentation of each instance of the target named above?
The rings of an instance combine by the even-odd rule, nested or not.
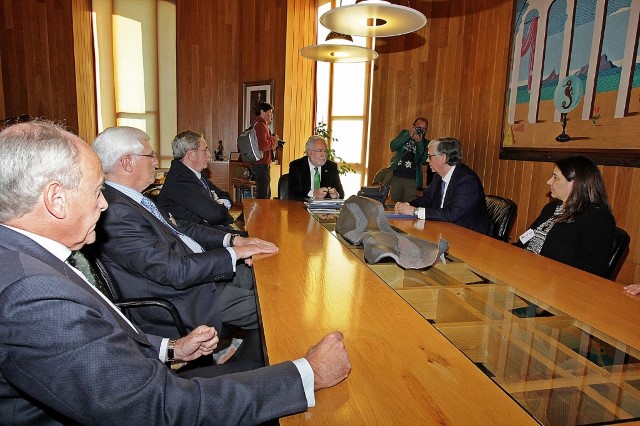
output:
[[[462,145],[454,138],[429,142],[427,162],[435,172],[422,195],[409,203],[396,203],[395,211],[419,219],[453,222],[481,234],[491,228],[484,189],[478,175],[462,163]]]

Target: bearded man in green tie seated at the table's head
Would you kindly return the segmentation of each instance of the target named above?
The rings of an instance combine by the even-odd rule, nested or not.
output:
[[[327,143],[321,136],[311,136],[305,146],[307,155],[289,163],[289,197],[344,198],[338,165],[327,160]]]

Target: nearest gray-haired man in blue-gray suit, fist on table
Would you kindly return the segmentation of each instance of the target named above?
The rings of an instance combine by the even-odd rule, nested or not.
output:
[[[144,334],[65,262],[95,239],[102,185],[100,160],[71,133],[42,122],[0,132],[1,423],[255,424],[304,411],[314,388],[348,375],[339,333],[293,362],[174,374],[163,361],[211,353],[216,330],[174,345]]]

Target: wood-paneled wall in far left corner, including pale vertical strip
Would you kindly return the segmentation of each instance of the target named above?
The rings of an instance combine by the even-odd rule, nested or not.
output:
[[[2,0],[2,118],[45,117],[95,135],[90,10],[90,0]]]

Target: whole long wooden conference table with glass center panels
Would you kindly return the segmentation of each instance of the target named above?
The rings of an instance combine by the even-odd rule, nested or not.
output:
[[[586,424],[640,418],[640,299],[619,284],[459,226],[390,219],[449,242],[447,262],[367,264],[300,202],[243,200],[270,364],[345,336],[352,371],[282,424]],[[537,316],[527,316],[538,306]]]

